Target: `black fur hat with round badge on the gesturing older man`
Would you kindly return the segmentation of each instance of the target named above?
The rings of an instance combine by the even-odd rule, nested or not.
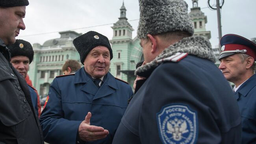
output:
[[[89,31],[82,34],[73,40],[73,44],[80,55],[82,64],[87,54],[89,54],[89,52],[97,46],[107,47],[110,53],[110,60],[113,58],[113,52],[108,38],[98,32]]]

